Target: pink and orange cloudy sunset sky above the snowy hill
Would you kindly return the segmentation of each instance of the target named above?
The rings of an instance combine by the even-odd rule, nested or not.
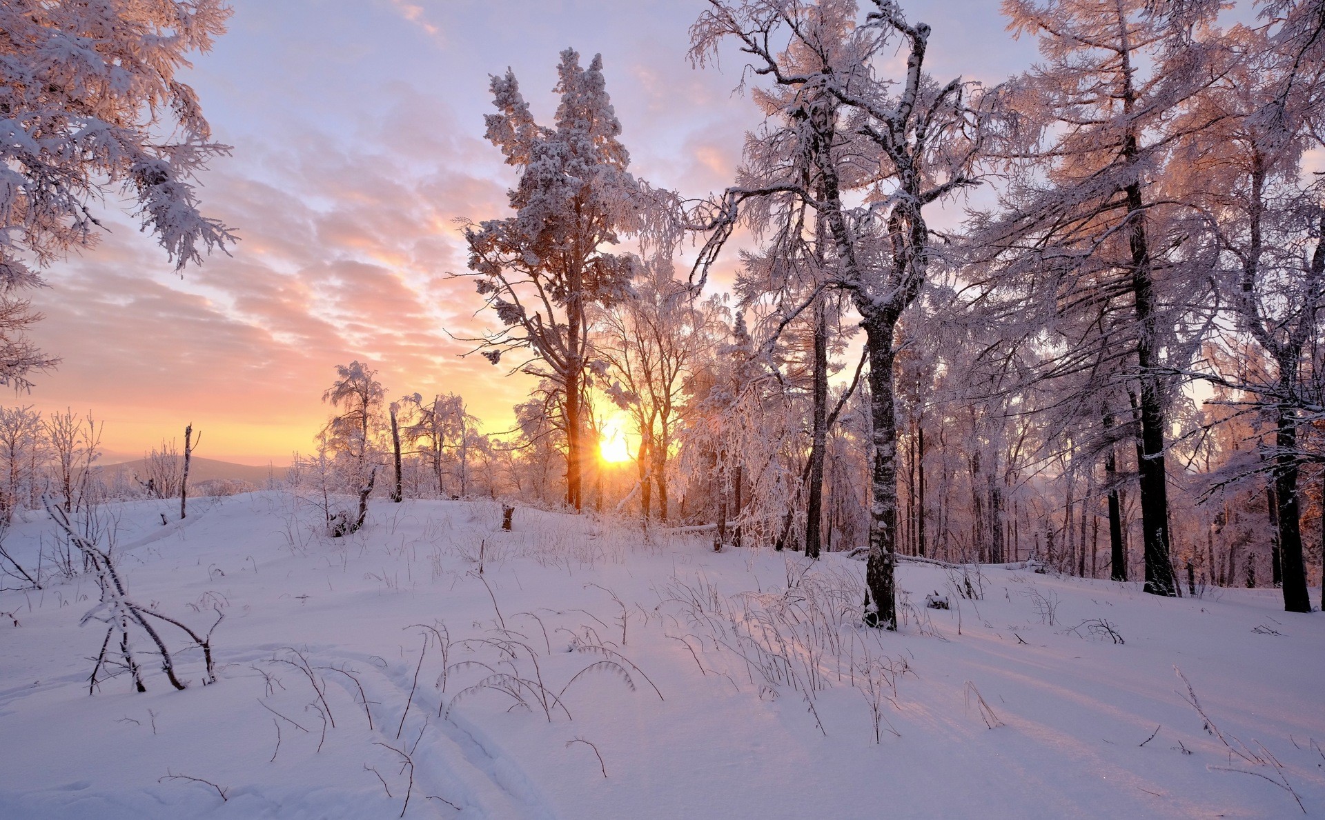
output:
[[[743,62],[692,69],[702,0],[233,0],[229,32],[186,76],[215,135],[204,209],[235,228],[233,257],[175,274],[151,237],[111,219],[101,244],[52,266],[34,338],[61,367],[8,403],[91,409],[107,461],[203,431],[200,456],[289,462],[325,423],[322,391],[351,359],[388,396],[458,392],[489,431],[530,380],[448,335],[490,319],[456,217],[504,216],[514,171],[482,139],[488,77],[515,70],[541,121],[558,52],[602,52],[632,155],[655,185],[701,196],[730,183],[753,103]],[[928,66],[998,81],[1034,44],[996,0],[910,1],[934,28]],[[114,213],[118,203],[107,203]],[[733,254],[734,256],[734,254]]]

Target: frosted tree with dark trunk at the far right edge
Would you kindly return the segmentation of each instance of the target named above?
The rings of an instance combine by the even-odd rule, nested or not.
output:
[[[1325,62],[1285,37],[1302,23],[1301,5],[1309,4],[1226,36],[1239,60],[1192,113],[1218,121],[1218,131],[1183,155],[1192,197],[1208,215],[1223,257],[1219,281],[1235,317],[1226,347],[1248,339],[1263,352],[1223,356],[1202,375],[1248,393],[1243,409],[1264,413],[1275,431],[1259,465],[1222,480],[1272,476],[1273,579],[1289,612],[1310,611],[1298,477],[1313,456],[1301,446],[1300,428],[1314,399],[1312,352],[1325,330],[1325,208],[1318,180],[1304,183],[1302,167],[1304,151],[1320,146]]]

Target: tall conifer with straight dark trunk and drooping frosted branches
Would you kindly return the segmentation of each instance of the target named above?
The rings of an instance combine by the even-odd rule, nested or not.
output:
[[[1022,299],[1018,333],[1045,330],[1049,375],[1093,372],[1084,412],[1136,408],[1145,589],[1177,595],[1171,372],[1204,333],[1214,258],[1171,162],[1212,125],[1185,114],[1226,68],[1219,4],[1007,0],[1003,11],[1014,33],[1039,40],[1043,62],[1006,89],[1019,139],[1003,212],[977,231],[979,266]]]

